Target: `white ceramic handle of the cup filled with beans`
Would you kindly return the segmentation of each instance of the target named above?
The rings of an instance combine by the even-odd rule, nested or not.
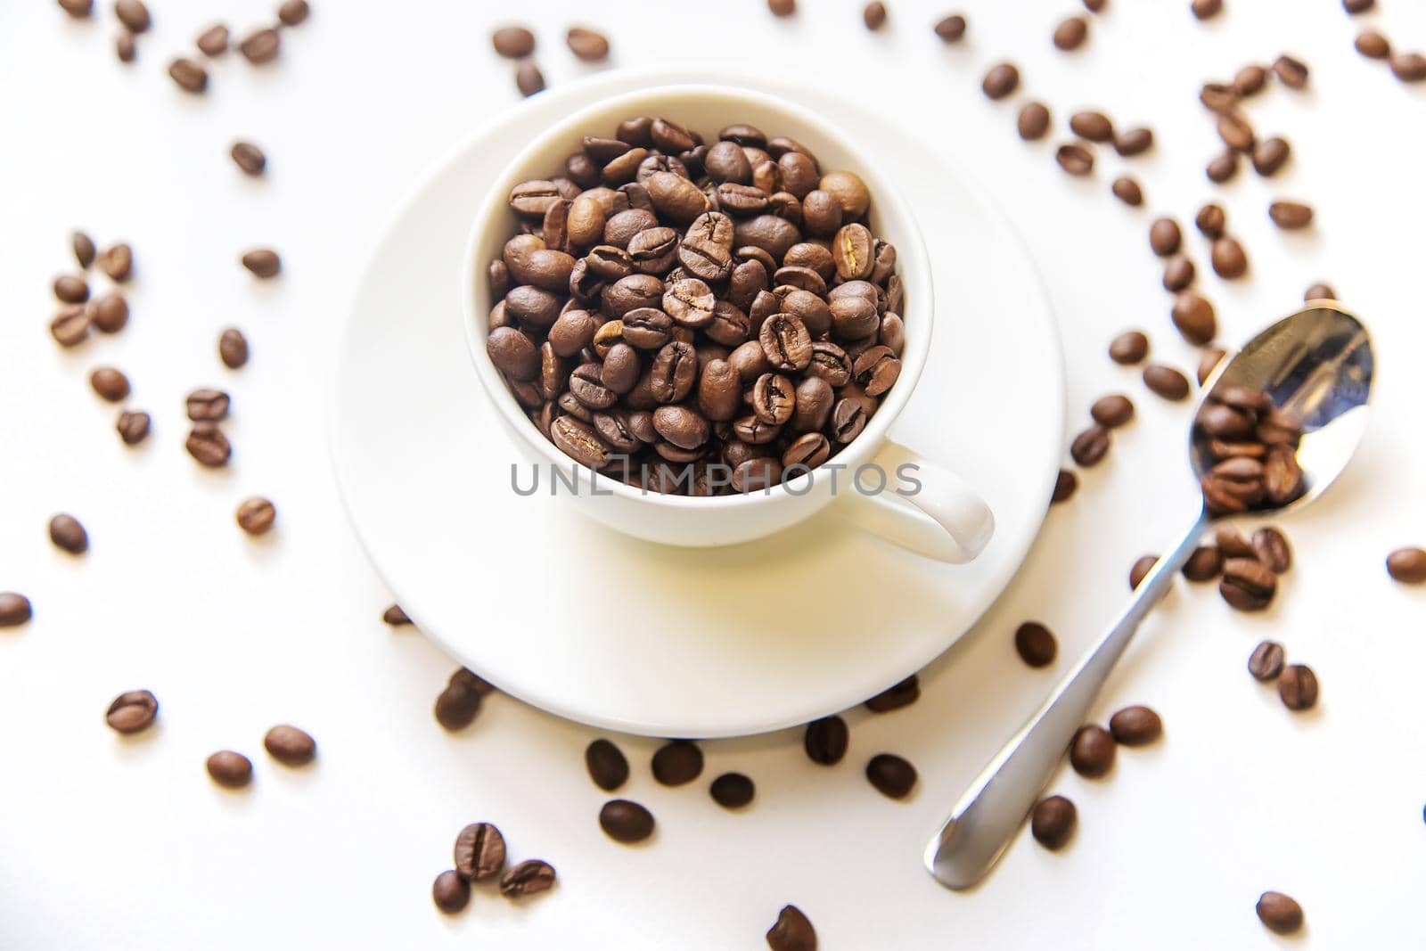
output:
[[[964,565],[990,543],[995,516],[965,482],[945,466],[887,441],[874,463],[887,473],[887,488],[876,495],[854,490],[847,505],[834,506],[858,528],[894,545],[951,565]],[[903,466],[920,483],[915,492]],[[900,495],[903,488],[906,495]]]

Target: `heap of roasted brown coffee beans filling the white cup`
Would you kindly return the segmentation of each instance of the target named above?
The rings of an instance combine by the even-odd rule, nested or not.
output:
[[[764,490],[850,443],[901,372],[896,248],[858,175],[729,125],[588,135],[511,190],[486,352],[536,428],[646,490]]]

